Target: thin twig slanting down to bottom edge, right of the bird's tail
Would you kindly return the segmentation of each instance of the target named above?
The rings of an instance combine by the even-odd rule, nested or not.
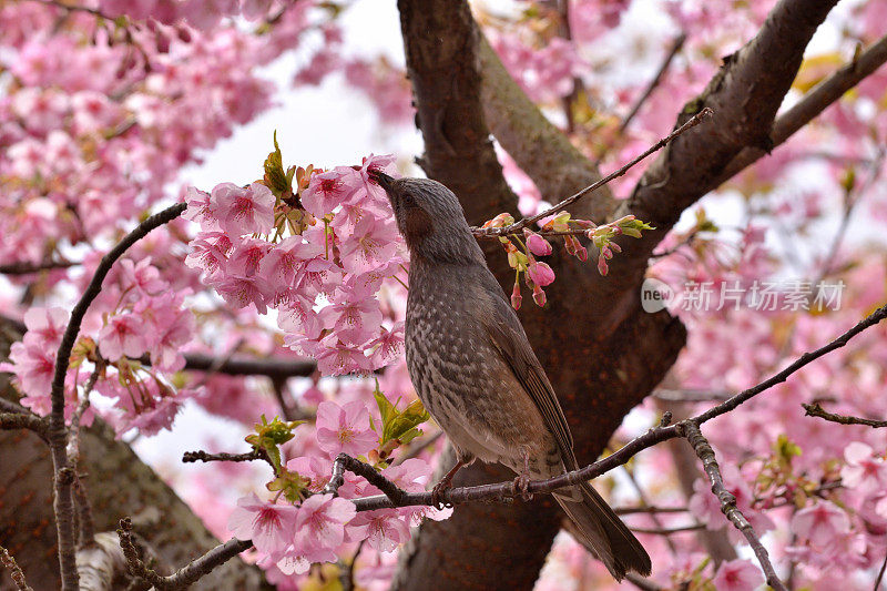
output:
[[[761,543],[761,538],[757,537],[752,524],[742,511],[740,511],[738,507],[736,507],[736,497],[724,486],[721,468],[717,466],[717,460],[714,457],[714,449],[712,449],[708,440],[702,435],[699,424],[693,420],[686,421],[684,431],[687,442],[693,446],[693,451],[699,456],[702,461],[702,468],[712,482],[712,493],[721,501],[721,512],[724,513],[727,520],[733,523],[733,527],[740,530],[745,539],[748,540],[748,544],[752,547],[752,550],[754,550],[757,561],[761,563],[761,569],[767,578],[767,584],[776,591],[788,591],[776,575],[773,563],[769,561],[767,549]]]

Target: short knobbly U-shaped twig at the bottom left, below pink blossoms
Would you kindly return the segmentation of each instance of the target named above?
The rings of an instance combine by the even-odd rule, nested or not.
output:
[[[205,574],[208,574],[216,567],[224,564],[244,550],[253,547],[253,542],[249,540],[233,538],[223,544],[216,546],[201,558],[188,562],[169,577],[163,577],[149,569],[139,558],[139,550],[132,540],[132,521],[130,521],[129,517],[120,520],[118,536],[120,537],[120,547],[126,557],[126,567],[130,573],[141,577],[160,590],[185,589]]]

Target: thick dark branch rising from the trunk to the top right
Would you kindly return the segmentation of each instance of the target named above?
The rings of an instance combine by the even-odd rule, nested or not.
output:
[[[776,112],[794,81],[804,50],[836,0],[781,0],[754,39],[724,59],[706,89],[687,102],[677,125],[703,108],[714,116],[672,142],[646,170],[615,217],[633,214],[656,227],[626,243],[606,281],[592,292],[608,303],[600,329],[612,334],[628,317],[653,249],[681,213],[717,185],[745,147],[769,150]],[[624,310],[620,314],[621,310]]]

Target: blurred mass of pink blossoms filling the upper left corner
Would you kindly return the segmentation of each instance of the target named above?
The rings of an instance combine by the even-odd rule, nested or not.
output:
[[[141,17],[174,2],[103,4]],[[282,19],[285,43],[233,24],[212,34],[155,21],[114,29],[85,11],[59,20],[65,11],[49,3],[0,7],[0,68],[17,81],[0,98],[0,258],[39,263],[113,240],[164,197],[200,150],[269,105],[271,85],[251,69],[297,43],[299,4]]]

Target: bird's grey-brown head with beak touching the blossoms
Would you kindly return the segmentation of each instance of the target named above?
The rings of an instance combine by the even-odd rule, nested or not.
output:
[[[429,179],[392,179],[377,170],[369,174],[388,194],[397,227],[414,257],[440,263],[483,261],[452,191]]]

